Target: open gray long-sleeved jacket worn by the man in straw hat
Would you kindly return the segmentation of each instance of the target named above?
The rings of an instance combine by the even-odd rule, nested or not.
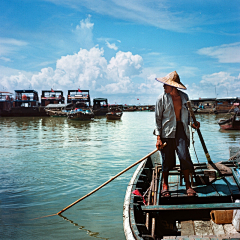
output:
[[[179,94],[182,99],[181,121],[188,138],[189,146],[190,132],[188,125],[190,124],[190,114],[187,108],[187,101],[189,98],[184,92],[179,91]],[[169,93],[164,93],[158,97],[155,107],[155,120],[156,128],[153,132],[154,135],[160,135],[161,138],[175,138],[177,121],[172,97]]]

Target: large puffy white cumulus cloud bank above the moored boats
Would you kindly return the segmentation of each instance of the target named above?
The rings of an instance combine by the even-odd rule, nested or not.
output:
[[[133,91],[131,78],[141,73],[143,59],[131,52],[117,52],[108,62],[104,50],[95,46],[89,51],[80,49],[73,55],[62,56],[57,60],[56,69],[43,68],[32,74],[19,73],[4,76],[0,83],[9,90],[29,89],[47,90],[90,89],[91,91],[128,93]]]

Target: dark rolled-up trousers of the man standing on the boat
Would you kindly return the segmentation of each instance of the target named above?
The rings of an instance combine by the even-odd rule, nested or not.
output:
[[[182,122],[177,122],[175,138],[162,138],[167,145],[161,150],[162,171],[168,172],[176,166],[176,153],[180,161],[181,170],[193,171],[193,163],[190,157],[187,136]]]

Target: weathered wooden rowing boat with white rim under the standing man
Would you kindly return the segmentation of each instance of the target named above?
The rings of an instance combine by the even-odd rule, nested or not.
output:
[[[192,184],[197,192],[194,197],[186,194],[180,166],[170,171],[171,197],[161,195],[159,152],[141,162],[129,182],[124,200],[126,239],[210,239],[210,236],[212,239],[240,239],[240,234],[225,214],[240,209],[240,203],[235,201],[240,199],[240,178],[237,174],[239,153],[239,148],[231,148],[230,154],[238,157],[214,167],[205,163],[194,164]],[[214,169],[216,166],[220,177]],[[221,223],[216,220],[219,216],[223,218]]]

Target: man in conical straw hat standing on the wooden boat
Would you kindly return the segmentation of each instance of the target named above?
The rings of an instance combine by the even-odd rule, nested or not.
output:
[[[170,197],[168,189],[169,170],[176,165],[176,154],[180,161],[180,168],[186,183],[188,196],[194,196],[196,192],[191,188],[189,173],[193,172],[193,163],[189,154],[190,145],[190,114],[187,109],[188,95],[179,89],[187,89],[181,82],[176,71],[162,78],[156,78],[163,83],[164,94],[160,95],[155,107],[156,128],[154,135],[157,136],[156,147],[162,155],[163,186],[162,196]],[[192,127],[198,129],[200,123]],[[163,148],[163,143],[167,145]]]

